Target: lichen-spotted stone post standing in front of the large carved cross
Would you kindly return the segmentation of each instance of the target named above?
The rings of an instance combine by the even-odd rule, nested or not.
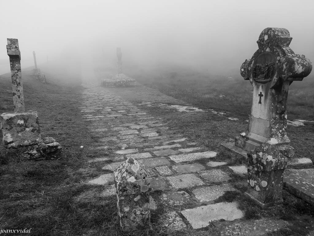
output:
[[[291,152],[289,144],[276,145],[268,141],[247,154],[245,195],[262,208],[283,201],[283,174]]]

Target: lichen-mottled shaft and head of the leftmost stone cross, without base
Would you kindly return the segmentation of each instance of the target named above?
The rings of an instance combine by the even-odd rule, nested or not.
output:
[[[14,112],[25,111],[19,42],[16,38],[8,38],[7,40],[7,52],[10,57]]]

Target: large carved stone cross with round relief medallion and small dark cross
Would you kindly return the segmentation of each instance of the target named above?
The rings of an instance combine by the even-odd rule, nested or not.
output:
[[[257,40],[257,51],[241,66],[241,76],[253,86],[248,129],[245,138],[235,143],[246,151],[271,138],[278,143],[290,142],[286,113],[289,85],[303,80],[312,70],[311,61],[289,47],[291,40],[284,28],[264,29]]]

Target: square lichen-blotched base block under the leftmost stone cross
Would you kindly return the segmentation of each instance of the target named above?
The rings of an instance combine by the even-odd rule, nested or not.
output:
[[[36,111],[3,113],[0,115],[3,144],[6,148],[20,148],[41,143]]]

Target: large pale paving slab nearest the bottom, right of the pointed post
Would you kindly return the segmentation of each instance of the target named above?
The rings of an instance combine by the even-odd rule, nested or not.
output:
[[[199,206],[181,211],[182,215],[192,225],[193,229],[207,227],[212,221],[224,219],[233,221],[244,217],[244,212],[238,209],[237,202],[220,202]]]

